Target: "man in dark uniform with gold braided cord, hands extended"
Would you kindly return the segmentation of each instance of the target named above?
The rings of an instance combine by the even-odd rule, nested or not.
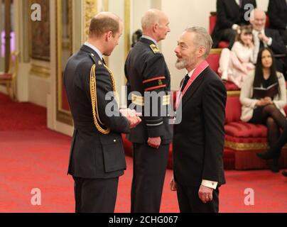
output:
[[[87,42],[70,57],[64,72],[75,125],[68,174],[75,181],[77,213],[114,212],[119,176],[126,169],[121,133],[141,121],[134,111],[119,110],[114,77],[102,58],[111,55],[122,30],[123,23],[112,13],[92,18]],[[106,110],[107,105],[112,108]]]

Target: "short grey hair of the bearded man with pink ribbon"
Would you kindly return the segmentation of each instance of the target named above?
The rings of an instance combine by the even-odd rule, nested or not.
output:
[[[195,34],[195,40],[193,40],[193,43],[195,43],[197,47],[200,47],[201,45],[205,47],[205,59],[206,59],[208,55],[210,55],[210,50],[213,45],[212,38],[210,34],[207,32],[207,30],[199,26],[193,26],[186,28],[185,32]]]

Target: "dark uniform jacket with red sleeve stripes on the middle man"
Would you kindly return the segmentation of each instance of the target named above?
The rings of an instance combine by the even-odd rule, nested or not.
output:
[[[155,49],[153,49],[155,48]],[[154,51],[155,50],[155,51]],[[126,59],[125,74],[128,81],[128,91],[145,94],[168,94],[170,92],[170,72],[163,54],[159,52],[153,41],[141,38],[131,49]],[[135,93],[136,92],[136,93]],[[131,95],[131,94],[130,94]],[[134,143],[146,143],[148,138],[161,137],[162,144],[168,144],[173,138],[172,127],[169,124],[169,105],[135,106],[142,111],[143,121],[136,128],[131,129],[129,140]],[[152,115],[154,109],[158,114]],[[166,114],[161,113],[161,109],[166,109]]]

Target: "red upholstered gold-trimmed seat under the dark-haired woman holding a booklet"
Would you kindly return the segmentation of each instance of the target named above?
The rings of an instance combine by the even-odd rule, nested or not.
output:
[[[234,150],[234,166],[236,170],[268,168],[268,162],[256,157],[256,153],[267,149],[267,128],[262,125],[240,121],[241,109],[242,105],[239,101],[239,95],[229,94],[225,111],[225,148]],[[282,151],[279,165],[287,167],[286,148]]]

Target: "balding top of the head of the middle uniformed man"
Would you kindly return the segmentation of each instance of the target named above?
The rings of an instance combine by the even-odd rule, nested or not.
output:
[[[156,23],[161,24],[161,21],[167,18],[166,14],[160,10],[149,9],[144,13],[143,18],[141,18],[141,27],[143,28],[143,31],[146,31],[151,29]]]

